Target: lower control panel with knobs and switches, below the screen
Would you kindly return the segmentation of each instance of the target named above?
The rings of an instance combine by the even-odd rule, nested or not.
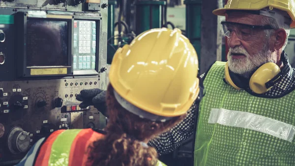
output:
[[[0,164],[21,159],[40,138],[59,129],[103,129],[106,118],[76,96],[99,88],[97,78],[0,82]]]

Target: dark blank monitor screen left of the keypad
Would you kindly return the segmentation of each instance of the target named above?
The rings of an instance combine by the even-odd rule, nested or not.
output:
[[[66,21],[27,21],[27,66],[69,66]]]

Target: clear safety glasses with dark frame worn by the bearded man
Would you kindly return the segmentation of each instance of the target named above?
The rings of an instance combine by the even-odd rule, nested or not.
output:
[[[235,31],[237,37],[240,40],[249,41],[255,38],[261,30],[273,30],[270,25],[265,26],[257,26],[257,25],[248,25],[248,24],[241,24],[241,23],[234,23],[234,22],[221,22],[223,26],[224,34],[227,37],[231,37],[232,33]]]

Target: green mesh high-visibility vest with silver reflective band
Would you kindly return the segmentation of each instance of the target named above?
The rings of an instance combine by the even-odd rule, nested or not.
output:
[[[262,98],[224,83],[225,63],[204,80],[194,166],[295,166],[295,91]]]

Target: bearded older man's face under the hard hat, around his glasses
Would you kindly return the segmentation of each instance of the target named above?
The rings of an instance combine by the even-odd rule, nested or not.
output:
[[[263,25],[261,23],[263,17],[265,16],[233,12],[228,14],[227,21],[247,25]],[[247,40],[243,40],[241,35],[237,35],[236,31],[238,30],[234,29],[231,37],[228,38],[230,47],[228,64],[233,72],[248,77],[255,68],[262,64],[266,62],[276,63],[277,57],[269,49],[271,37],[266,36],[263,30],[258,30]]]

